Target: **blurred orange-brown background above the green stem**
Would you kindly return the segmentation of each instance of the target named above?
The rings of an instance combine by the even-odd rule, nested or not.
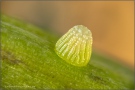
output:
[[[1,11],[60,35],[84,25],[93,50],[134,66],[134,1],[2,1]]]

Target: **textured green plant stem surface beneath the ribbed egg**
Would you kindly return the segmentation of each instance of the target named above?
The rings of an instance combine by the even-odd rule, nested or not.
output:
[[[30,24],[2,16],[2,87],[30,89],[133,89],[133,71],[92,53],[85,67],[66,63],[54,52],[58,40]]]

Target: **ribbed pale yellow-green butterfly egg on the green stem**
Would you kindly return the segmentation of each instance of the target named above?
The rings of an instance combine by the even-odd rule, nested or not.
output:
[[[57,41],[55,52],[69,64],[86,66],[92,53],[91,31],[83,25],[74,26]]]

